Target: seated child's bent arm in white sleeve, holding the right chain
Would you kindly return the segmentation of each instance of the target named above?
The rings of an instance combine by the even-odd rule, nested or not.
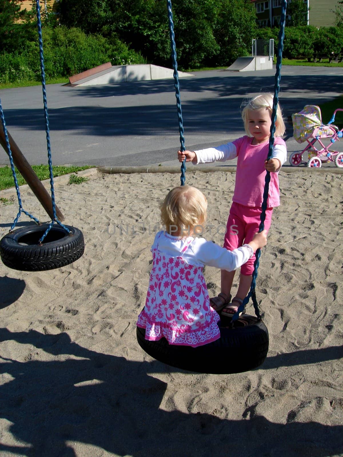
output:
[[[255,234],[250,243],[229,251],[225,248],[197,238],[192,244],[193,252],[199,262],[208,266],[215,266],[221,270],[234,271],[252,257],[253,253],[267,244],[267,230]]]

